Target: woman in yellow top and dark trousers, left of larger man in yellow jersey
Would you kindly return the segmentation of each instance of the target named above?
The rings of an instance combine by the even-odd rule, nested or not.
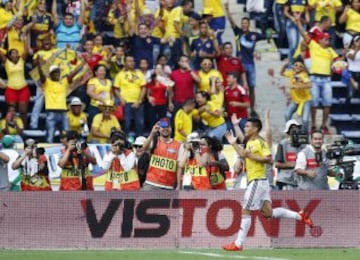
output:
[[[99,105],[106,100],[113,99],[111,80],[106,78],[105,65],[99,64],[94,68],[95,77],[88,81],[86,93],[91,98],[88,107],[89,124],[94,116],[100,113]]]

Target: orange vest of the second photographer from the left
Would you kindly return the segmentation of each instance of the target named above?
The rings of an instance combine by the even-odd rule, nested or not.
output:
[[[61,150],[62,154],[65,153],[65,149]],[[89,161],[84,156],[84,167],[86,176],[87,190],[94,190],[93,177],[89,171]],[[76,151],[72,152],[67,160],[65,167],[61,170],[60,190],[61,191],[75,191],[81,190],[82,176],[80,169],[80,161]]]

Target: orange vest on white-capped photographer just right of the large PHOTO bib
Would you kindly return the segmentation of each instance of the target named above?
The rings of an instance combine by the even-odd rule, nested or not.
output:
[[[205,167],[197,165],[196,159],[188,159],[183,176],[183,186],[194,190],[211,190],[209,174]]]

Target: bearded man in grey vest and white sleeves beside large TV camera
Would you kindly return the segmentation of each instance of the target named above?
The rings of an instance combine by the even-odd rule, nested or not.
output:
[[[322,149],[324,134],[315,130],[311,134],[310,144],[297,156],[295,171],[298,175],[300,190],[329,190],[327,176],[335,177],[336,173],[329,169],[329,160]]]

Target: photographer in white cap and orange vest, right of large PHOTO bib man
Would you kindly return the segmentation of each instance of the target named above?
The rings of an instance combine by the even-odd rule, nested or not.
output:
[[[184,169],[182,188],[185,190],[210,190],[210,175],[206,170],[208,154],[200,152],[200,138],[196,132],[188,135],[179,167]]]

